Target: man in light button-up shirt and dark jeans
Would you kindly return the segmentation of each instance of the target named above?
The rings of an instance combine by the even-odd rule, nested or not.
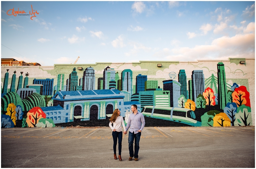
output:
[[[128,122],[126,125],[126,131],[129,129],[129,136],[128,136],[128,143],[129,143],[129,161],[132,160],[132,157],[134,157],[135,161],[138,161],[138,153],[139,153],[139,142],[140,142],[140,136],[141,136],[141,131],[143,130],[145,126],[145,119],[143,114],[139,113],[137,110],[137,105],[133,104],[131,106],[132,112],[128,118]],[[127,132],[124,131],[124,134]],[[133,152],[133,141],[135,140],[134,144],[134,152]]]

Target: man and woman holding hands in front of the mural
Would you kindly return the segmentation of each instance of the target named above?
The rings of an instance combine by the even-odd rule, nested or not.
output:
[[[120,116],[120,110],[117,108],[114,110],[112,116],[110,117],[110,123],[109,127],[112,129],[112,136],[113,136],[113,150],[114,150],[114,159],[117,160],[116,156],[116,145],[117,145],[117,139],[118,139],[118,158],[121,161],[121,150],[122,150],[122,125],[124,128],[124,134],[127,134],[127,130],[130,127],[129,130],[129,136],[128,136],[128,143],[129,143],[129,161],[132,160],[132,157],[134,157],[135,161],[138,161],[138,153],[139,153],[139,142],[140,142],[140,136],[141,131],[145,126],[145,119],[143,114],[138,112],[137,105],[133,104],[131,106],[131,110],[133,113],[130,114],[127,125],[125,127],[124,119],[122,116]],[[113,126],[112,126],[113,123]],[[134,145],[134,151],[133,151],[133,141],[135,141]]]

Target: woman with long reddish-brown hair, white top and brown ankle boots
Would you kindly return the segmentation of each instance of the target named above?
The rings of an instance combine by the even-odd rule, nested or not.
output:
[[[122,132],[122,125],[124,128],[124,131],[126,131],[125,129],[125,125],[124,125],[124,119],[122,116],[120,116],[120,110],[117,108],[114,110],[112,116],[110,117],[110,122],[109,122],[109,127],[112,129],[112,136],[113,136],[113,150],[114,150],[114,159],[117,160],[116,157],[116,144],[117,144],[117,138],[118,138],[118,158],[121,161],[121,150],[122,150],[122,136],[123,136],[123,132]],[[113,123],[113,126],[112,126]]]

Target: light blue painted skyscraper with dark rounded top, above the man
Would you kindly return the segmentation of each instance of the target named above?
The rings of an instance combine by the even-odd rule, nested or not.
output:
[[[132,70],[125,69],[122,72],[122,90],[128,91],[132,95]]]

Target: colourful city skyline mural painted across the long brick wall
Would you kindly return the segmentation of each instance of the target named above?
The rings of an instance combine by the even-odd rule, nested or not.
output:
[[[244,60],[1,67],[1,126],[108,126],[132,104],[145,126],[255,125],[255,60]]]

